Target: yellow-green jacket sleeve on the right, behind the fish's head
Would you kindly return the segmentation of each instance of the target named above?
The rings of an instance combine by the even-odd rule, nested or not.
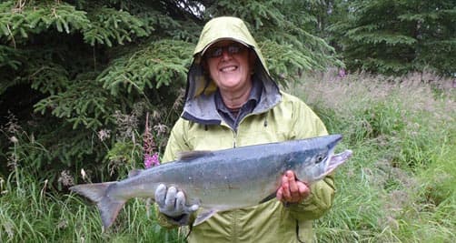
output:
[[[320,117],[302,101],[295,102],[291,127],[292,139],[328,135]],[[298,220],[321,218],[332,207],[334,197],[334,175],[329,175],[311,185],[311,195],[300,204],[288,207],[292,217]]]

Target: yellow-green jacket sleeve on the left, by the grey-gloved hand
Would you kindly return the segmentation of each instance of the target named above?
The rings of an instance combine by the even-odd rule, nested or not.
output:
[[[168,139],[168,143],[164,150],[164,157],[162,158],[162,162],[166,163],[169,161],[173,161],[176,159],[177,154],[183,151],[190,151],[190,147],[186,141],[186,123],[183,121],[182,118],[178,119],[175,123],[173,129],[171,130],[171,135]],[[158,206],[155,204],[155,212],[157,222],[160,226],[164,228],[175,228],[182,226],[182,222],[174,220],[173,218],[169,218],[166,215],[160,213],[158,210]],[[190,221],[193,221],[194,216],[190,217]],[[187,220],[186,220],[187,221]]]

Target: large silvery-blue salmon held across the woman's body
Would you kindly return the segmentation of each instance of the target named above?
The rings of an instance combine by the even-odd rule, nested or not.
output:
[[[154,199],[164,184],[183,190],[189,205],[200,210],[193,226],[213,214],[247,208],[275,197],[281,178],[292,170],[298,180],[312,185],[352,156],[346,149],[334,154],[342,135],[328,135],[284,142],[183,153],[177,160],[156,167],[134,170],[128,178],[70,187],[94,201],[103,228],[109,228],[125,202],[133,197]]]

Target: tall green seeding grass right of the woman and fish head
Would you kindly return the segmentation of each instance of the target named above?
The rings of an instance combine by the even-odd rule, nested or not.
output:
[[[456,89],[439,79],[323,75],[292,87],[354,152],[315,223],[320,241],[456,241]]]

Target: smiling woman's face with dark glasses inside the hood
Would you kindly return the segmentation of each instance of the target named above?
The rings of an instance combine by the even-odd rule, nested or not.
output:
[[[255,55],[246,46],[223,40],[210,46],[204,56],[215,84],[224,92],[250,86]]]

